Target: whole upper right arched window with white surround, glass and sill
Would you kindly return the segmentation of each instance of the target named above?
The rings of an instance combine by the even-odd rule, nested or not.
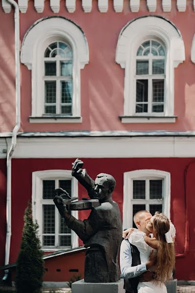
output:
[[[175,122],[174,68],[184,60],[184,42],[170,21],[144,16],[122,28],[116,48],[125,68],[122,123]]]

